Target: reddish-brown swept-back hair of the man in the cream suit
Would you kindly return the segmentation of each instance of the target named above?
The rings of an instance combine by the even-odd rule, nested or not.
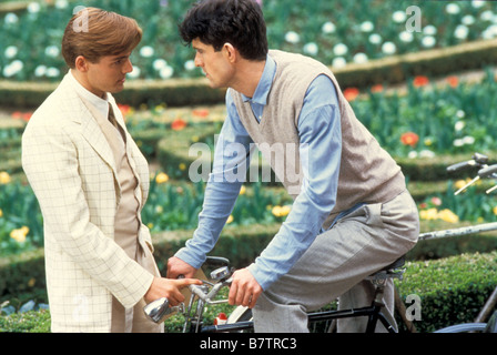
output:
[[[65,27],[62,55],[71,69],[74,69],[79,55],[98,63],[102,57],[131,52],[142,40],[142,34],[134,19],[97,8],[84,8]]]

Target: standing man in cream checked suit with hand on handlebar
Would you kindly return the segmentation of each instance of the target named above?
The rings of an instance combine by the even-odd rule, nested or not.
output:
[[[136,22],[88,8],[69,22],[70,70],[31,118],[22,164],[44,222],[52,332],[161,332],[143,306],[195,280],[160,276],[140,212],[149,166],[111,93],[132,71]]]

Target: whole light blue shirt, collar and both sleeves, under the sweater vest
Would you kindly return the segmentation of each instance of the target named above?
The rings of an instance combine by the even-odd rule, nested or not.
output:
[[[267,57],[264,72],[253,98],[244,97],[257,120],[266,105],[276,63]],[[205,189],[204,204],[193,239],[176,256],[200,267],[214,247],[240,193],[243,181],[233,181],[235,169],[248,166],[254,142],[243,126],[230,90],[226,93],[227,118],[221,130],[214,153],[213,171]],[[278,233],[261,253],[250,272],[263,290],[286,274],[310,247],[335,206],[342,155],[342,131],[335,87],[326,75],[318,75],[310,85],[298,119],[301,159],[305,166],[300,195]],[[240,150],[224,150],[235,143]],[[308,151],[303,152],[302,149]],[[234,152],[236,151],[236,152]],[[239,174],[240,175],[240,174]]]

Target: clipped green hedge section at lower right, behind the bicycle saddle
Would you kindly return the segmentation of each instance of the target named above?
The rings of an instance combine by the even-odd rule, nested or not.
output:
[[[397,286],[404,302],[420,298],[422,320],[414,322],[419,332],[474,322],[497,286],[497,252],[407,263]]]

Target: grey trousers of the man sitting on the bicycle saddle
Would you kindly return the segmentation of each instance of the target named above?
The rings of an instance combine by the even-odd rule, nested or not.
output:
[[[306,312],[337,298],[343,310],[371,305],[374,288],[365,278],[408,252],[418,234],[418,211],[407,191],[352,212],[317,235],[294,267],[260,296],[253,308],[255,332],[308,332]],[[393,321],[392,282],[384,301],[384,314]],[[337,331],[361,333],[366,322],[341,320]]]

